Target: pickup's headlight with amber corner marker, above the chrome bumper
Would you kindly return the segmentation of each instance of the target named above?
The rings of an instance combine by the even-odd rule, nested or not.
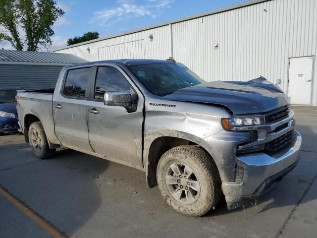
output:
[[[264,115],[232,116],[221,119],[221,124],[226,130],[238,130],[241,126],[256,126],[265,124]]]

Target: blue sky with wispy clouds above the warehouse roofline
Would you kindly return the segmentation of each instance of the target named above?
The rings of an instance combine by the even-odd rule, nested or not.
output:
[[[56,0],[66,13],[53,29],[53,46],[66,46],[68,38],[87,31],[100,37],[149,26],[224,6],[243,0]],[[10,44],[0,43],[9,49]]]

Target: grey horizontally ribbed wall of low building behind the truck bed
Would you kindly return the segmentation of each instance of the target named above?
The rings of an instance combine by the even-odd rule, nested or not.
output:
[[[63,66],[0,64],[0,87],[54,88]]]

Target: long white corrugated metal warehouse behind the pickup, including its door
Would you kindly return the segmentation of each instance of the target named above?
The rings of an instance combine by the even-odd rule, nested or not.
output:
[[[251,0],[55,50],[86,60],[172,56],[207,81],[259,76],[317,106],[317,0]]]

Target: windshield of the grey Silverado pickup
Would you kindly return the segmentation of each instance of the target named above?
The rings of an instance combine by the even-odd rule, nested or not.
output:
[[[178,89],[205,82],[181,63],[136,64],[128,68],[151,93],[157,96],[165,96]]]

